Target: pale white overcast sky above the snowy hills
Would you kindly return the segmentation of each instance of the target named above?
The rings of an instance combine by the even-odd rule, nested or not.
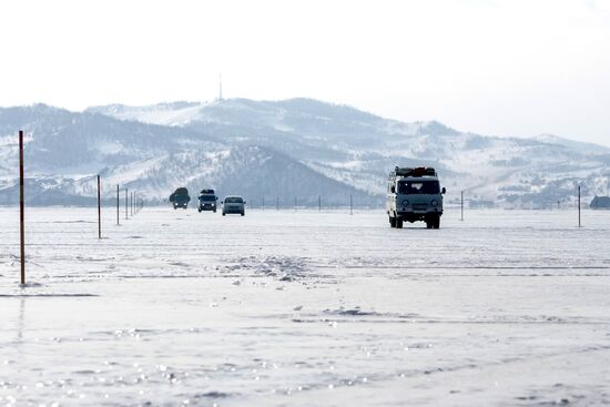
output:
[[[19,0],[0,105],[307,96],[610,145],[610,0]]]

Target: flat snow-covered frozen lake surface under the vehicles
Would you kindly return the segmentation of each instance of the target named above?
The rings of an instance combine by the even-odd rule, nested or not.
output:
[[[0,208],[0,405],[610,404],[610,212]]]

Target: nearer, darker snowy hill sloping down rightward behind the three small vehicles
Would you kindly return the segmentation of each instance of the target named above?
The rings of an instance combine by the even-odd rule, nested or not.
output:
[[[317,173],[278,152],[233,145],[203,132],[120,121],[92,112],[72,113],[47,105],[0,109],[0,204],[18,201],[18,138],[26,138],[27,200],[30,204],[91,204],[96,174],[104,196],[115,185],[138,190],[149,201],[163,202],[177,186],[193,194],[214,187],[282,205],[317,202],[345,204],[349,195],[363,203],[377,196]],[[298,182],[295,182],[298,180]]]

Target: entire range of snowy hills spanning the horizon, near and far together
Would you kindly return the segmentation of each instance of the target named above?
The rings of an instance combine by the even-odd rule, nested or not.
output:
[[[0,109],[0,203],[17,201],[16,132],[24,129],[31,199],[82,202],[104,190],[138,189],[161,202],[182,185],[251,200],[378,205],[395,165],[436,166],[455,202],[539,207],[606,194],[610,149],[568,139],[462,133],[404,123],[309,99],[222,100],[148,106],[112,104],[82,113],[47,105]],[[79,197],[80,196],[80,197]],[[87,201],[87,199],[85,199]]]

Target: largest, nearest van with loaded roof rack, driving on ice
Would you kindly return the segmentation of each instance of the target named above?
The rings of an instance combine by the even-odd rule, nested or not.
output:
[[[386,212],[389,225],[401,228],[405,221],[424,221],[426,227],[439,228],[445,193],[435,169],[396,166],[387,181]]]

